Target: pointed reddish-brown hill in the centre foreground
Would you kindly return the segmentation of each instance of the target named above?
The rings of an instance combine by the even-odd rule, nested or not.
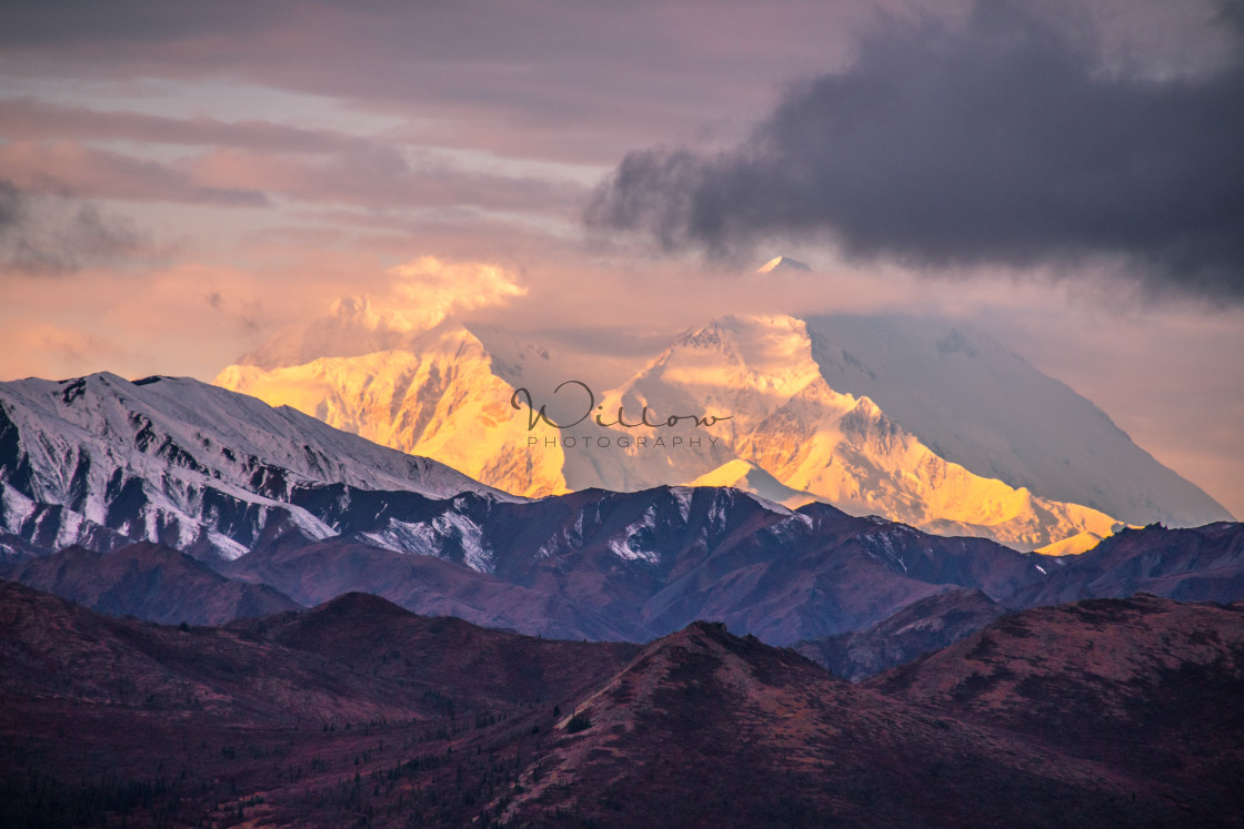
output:
[[[501,812],[515,825],[1181,819],[1141,779],[931,716],[708,623],[649,644],[576,706],[520,787]]]

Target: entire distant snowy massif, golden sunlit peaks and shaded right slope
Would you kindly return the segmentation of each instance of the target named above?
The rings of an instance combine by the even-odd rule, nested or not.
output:
[[[331,324],[345,318],[338,308]],[[940,321],[723,317],[612,389],[588,382],[552,394],[561,380],[592,378],[581,359],[445,319],[407,331],[387,350],[233,365],[216,383],[529,497],[728,483],[791,506],[824,500],[929,532],[1062,553],[1087,549],[1118,523],[1229,518],[1090,401]],[[554,423],[595,408],[573,429],[529,429],[534,414],[510,405],[518,388]],[[722,420],[593,423],[636,424],[644,406],[649,423]]]

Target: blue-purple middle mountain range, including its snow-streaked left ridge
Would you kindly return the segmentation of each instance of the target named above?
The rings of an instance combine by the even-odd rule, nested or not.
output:
[[[1050,557],[733,487],[518,498],[184,378],[0,387],[0,574],[158,621],[366,592],[531,635],[648,641],[708,618],[789,645],[957,590],[1229,602],[1244,573],[1234,523]]]

